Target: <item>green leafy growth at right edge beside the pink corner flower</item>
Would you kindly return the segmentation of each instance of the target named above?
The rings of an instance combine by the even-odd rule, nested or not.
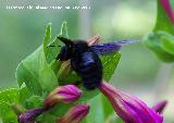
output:
[[[145,45],[151,49],[163,62],[174,62],[174,24],[162,7],[160,0],[157,0],[158,16],[157,23],[151,33],[144,37]]]

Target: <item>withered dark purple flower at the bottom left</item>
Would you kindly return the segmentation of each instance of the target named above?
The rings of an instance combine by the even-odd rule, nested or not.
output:
[[[46,110],[42,108],[27,110],[26,112],[18,115],[18,123],[33,123],[34,120],[45,111]]]

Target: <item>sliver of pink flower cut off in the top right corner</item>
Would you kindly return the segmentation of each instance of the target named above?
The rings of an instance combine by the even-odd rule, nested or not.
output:
[[[170,3],[170,0],[160,0],[162,7],[164,8],[166,14],[169,15],[172,23],[174,23],[174,13],[172,11],[172,5]]]

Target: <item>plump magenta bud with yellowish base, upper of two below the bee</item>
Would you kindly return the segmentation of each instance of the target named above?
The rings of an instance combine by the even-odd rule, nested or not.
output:
[[[45,107],[49,108],[55,104],[57,102],[73,102],[76,101],[82,95],[82,90],[74,85],[60,86],[45,100]]]

